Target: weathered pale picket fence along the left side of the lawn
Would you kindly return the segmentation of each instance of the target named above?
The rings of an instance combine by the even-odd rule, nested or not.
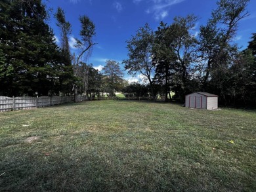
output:
[[[87,96],[77,96],[78,101],[88,100]],[[0,96],[0,111],[12,111],[18,109],[31,109],[34,107],[47,107],[65,104],[74,101],[74,96],[41,96],[33,98],[29,96],[23,97],[7,97]]]

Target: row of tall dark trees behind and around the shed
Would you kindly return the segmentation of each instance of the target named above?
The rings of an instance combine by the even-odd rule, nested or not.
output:
[[[248,3],[217,1],[199,33],[193,14],[161,22],[156,31],[145,24],[127,41],[125,69],[144,75],[152,96],[161,94],[166,101],[171,91],[181,101],[190,92],[203,91],[219,95],[224,105],[255,105],[256,33],[245,50],[234,43],[238,23],[249,16]]]

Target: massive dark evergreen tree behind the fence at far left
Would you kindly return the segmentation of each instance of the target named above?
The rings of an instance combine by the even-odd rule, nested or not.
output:
[[[0,92],[7,96],[55,94],[62,71],[45,5],[40,0],[0,2],[0,49],[5,56]]]

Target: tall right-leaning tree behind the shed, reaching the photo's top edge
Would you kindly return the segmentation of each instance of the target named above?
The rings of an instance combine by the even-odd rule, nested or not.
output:
[[[232,39],[236,35],[238,22],[248,16],[245,10],[249,0],[220,0],[206,26],[200,28],[200,58],[202,62],[202,88],[224,98],[226,72],[233,55],[238,52]],[[209,85],[211,85],[209,87]],[[214,88],[213,88],[214,86]]]

